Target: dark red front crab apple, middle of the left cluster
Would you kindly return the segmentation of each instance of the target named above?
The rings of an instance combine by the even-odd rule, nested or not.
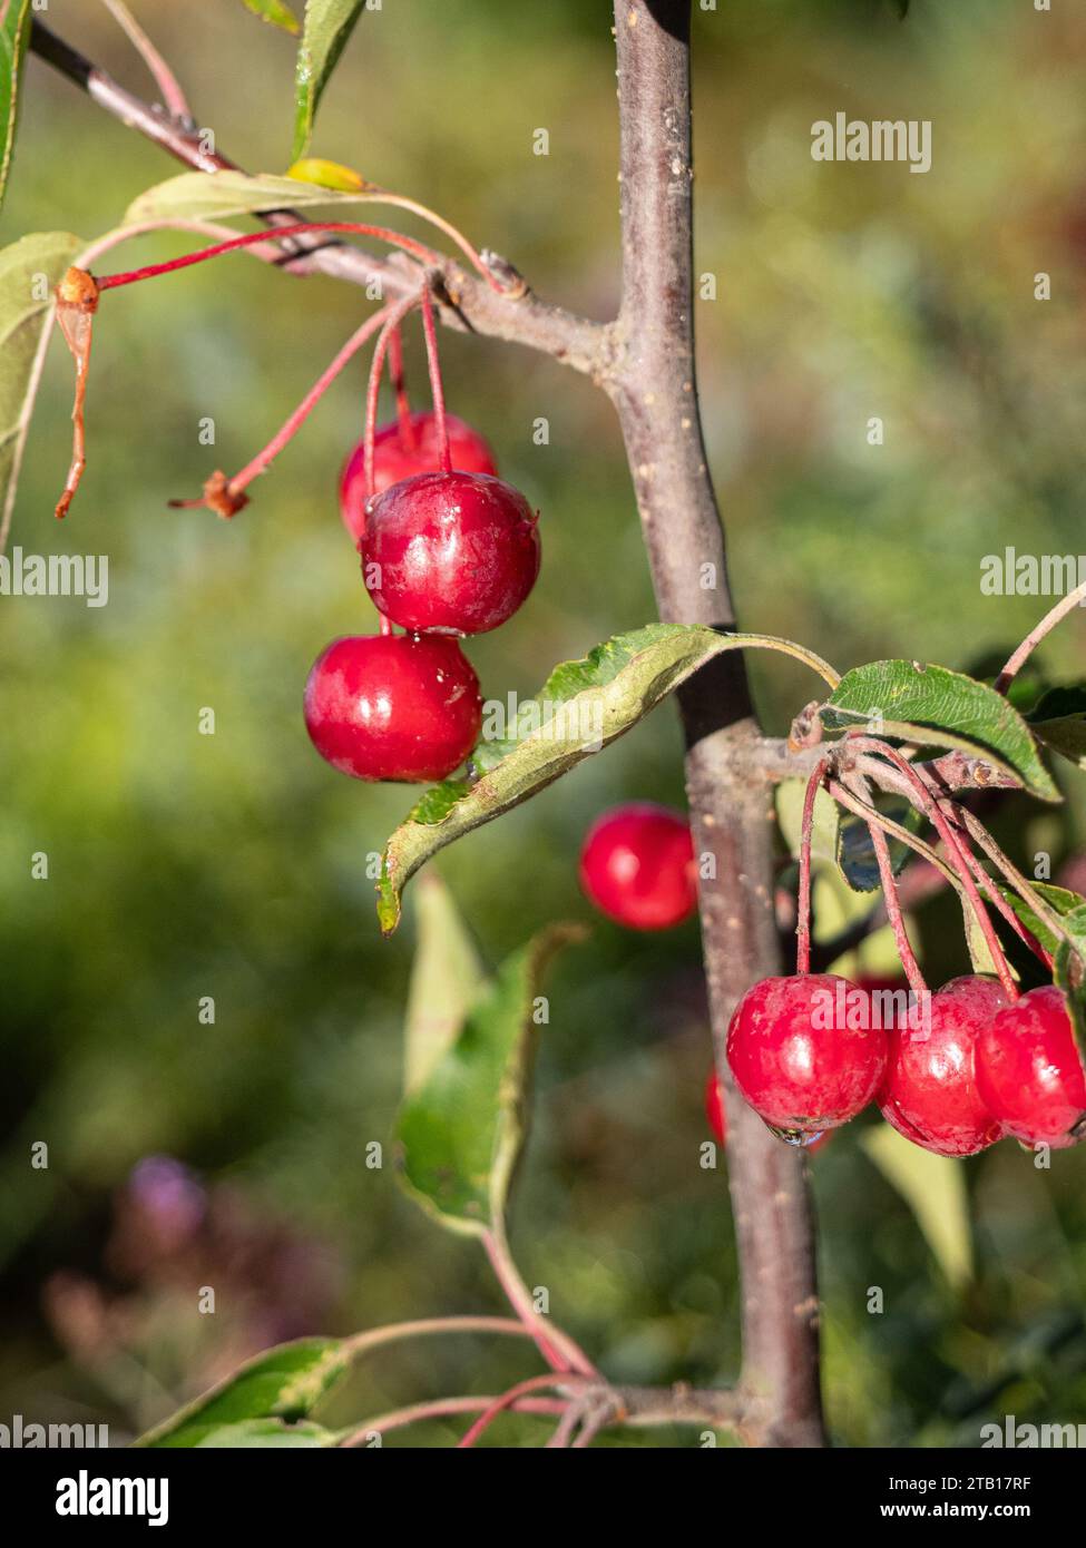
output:
[[[370,502],[358,545],[376,607],[403,628],[483,635],[539,574],[539,525],[486,474],[418,474]]]

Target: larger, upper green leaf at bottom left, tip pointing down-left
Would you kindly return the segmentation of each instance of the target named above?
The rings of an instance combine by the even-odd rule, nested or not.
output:
[[[297,1339],[265,1350],[201,1398],[139,1437],[136,1446],[232,1444],[211,1440],[223,1426],[274,1420],[284,1427],[308,1418],[342,1376],[349,1351],[339,1339]],[[268,1435],[273,1432],[268,1430]],[[265,1440],[260,1444],[268,1444]],[[290,1440],[277,1444],[299,1444]],[[316,1444],[304,1440],[301,1444]],[[319,1444],[325,1444],[321,1441]],[[328,1441],[327,1444],[335,1444]]]

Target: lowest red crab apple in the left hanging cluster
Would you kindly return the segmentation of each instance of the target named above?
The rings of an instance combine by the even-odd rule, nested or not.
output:
[[[480,726],[479,678],[455,639],[345,635],[318,656],[305,684],[313,746],[353,779],[445,779]]]

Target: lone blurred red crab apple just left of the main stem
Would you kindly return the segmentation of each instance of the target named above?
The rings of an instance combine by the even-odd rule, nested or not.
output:
[[[627,802],[598,817],[581,847],[579,873],[589,901],[631,930],[668,930],[697,906],[689,824],[654,802]]]

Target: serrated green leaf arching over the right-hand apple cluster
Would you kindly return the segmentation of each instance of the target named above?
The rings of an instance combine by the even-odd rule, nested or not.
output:
[[[1060,800],[1018,711],[962,672],[922,661],[872,661],[846,672],[821,718],[829,731],[866,726],[872,735],[959,748],[1010,774],[1041,800]]]

